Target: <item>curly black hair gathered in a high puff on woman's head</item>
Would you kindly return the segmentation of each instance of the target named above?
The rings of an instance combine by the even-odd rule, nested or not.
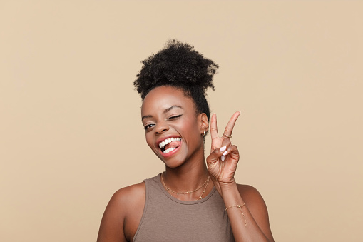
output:
[[[169,40],[164,49],[142,61],[143,67],[133,82],[141,99],[157,86],[174,86],[183,89],[195,103],[198,114],[210,119],[210,109],[205,99],[208,87],[214,90],[213,75],[218,64],[203,57],[193,46],[175,39]]]

